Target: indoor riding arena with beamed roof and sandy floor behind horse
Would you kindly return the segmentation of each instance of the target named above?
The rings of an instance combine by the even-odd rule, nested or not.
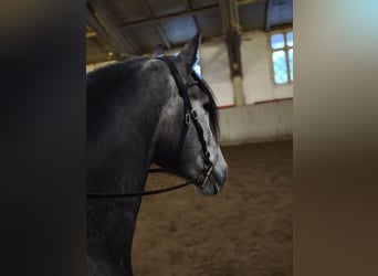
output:
[[[134,275],[291,276],[293,1],[88,0],[86,71],[176,55],[199,31],[193,70],[216,98],[228,179],[216,195],[143,197]],[[151,173],[146,190],[183,181]]]

